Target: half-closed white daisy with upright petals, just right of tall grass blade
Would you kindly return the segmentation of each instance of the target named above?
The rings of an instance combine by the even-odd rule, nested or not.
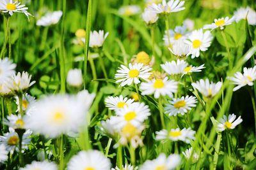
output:
[[[90,43],[89,46],[92,48],[99,48],[103,45],[105,39],[108,37],[109,32],[104,34],[103,30],[97,31],[91,31],[90,33]],[[83,38],[83,41],[84,38]]]

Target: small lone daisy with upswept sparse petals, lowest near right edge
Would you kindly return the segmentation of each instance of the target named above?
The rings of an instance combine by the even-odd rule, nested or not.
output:
[[[228,115],[228,117],[224,115],[223,118],[221,118],[220,122],[217,122],[217,129],[221,132],[225,131],[226,129],[234,129],[237,125],[241,124],[241,122],[243,122],[241,116],[239,116],[236,120],[236,115],[234,113],[232,115]]]

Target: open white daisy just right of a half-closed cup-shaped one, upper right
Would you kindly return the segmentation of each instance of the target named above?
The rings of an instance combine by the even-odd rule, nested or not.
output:
[[[200,51],[205,52],[208,50],[213,37],[210,31],[203,32],[203,29],[199,29],[191,32],[188,39],[185,41],[190,46],[188,55],[191,54],[191,58],[194,59],[195,57],[199,57]]]

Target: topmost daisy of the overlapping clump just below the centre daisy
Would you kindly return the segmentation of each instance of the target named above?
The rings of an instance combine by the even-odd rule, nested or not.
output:
[[[132,104],[134,99],[128,99],[127,97],[123,97],[120,95],[119,97],[113,97],[109,96],[105,99],[106,107],[109,108],[109,110],[119,110],[121,108],[124,108],[124,106],[129,106]]]

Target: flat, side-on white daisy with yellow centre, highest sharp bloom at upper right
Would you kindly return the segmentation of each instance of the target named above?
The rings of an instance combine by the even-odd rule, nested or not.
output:
[[[224,29],[225,26],[232,24],[232,22],[234,22],[234,21],[235,21],[234,17],[232,17],[232,18],[225,17],[225,18],[214,19],[214,23],[204,25],[204,29],[211,29],[211,30],[217,29],[217,28]]]

